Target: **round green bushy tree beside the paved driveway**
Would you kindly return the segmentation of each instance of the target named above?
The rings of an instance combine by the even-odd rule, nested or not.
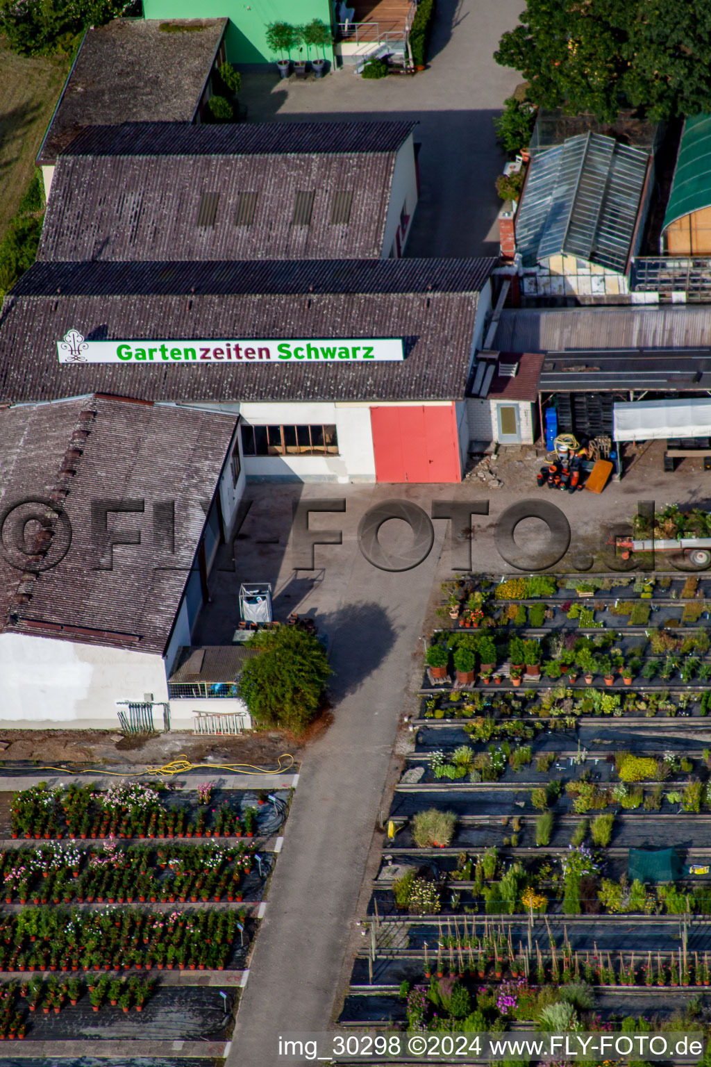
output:
[[[303,733],[323,699],[330,667],[320,641],[296,626],[263,630],[247,641],[259,655],[247,659],[238,692],[255,726]]]

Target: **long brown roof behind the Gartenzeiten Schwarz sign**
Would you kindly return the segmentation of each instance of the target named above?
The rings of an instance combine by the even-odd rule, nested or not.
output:
[[[0,396],[90,389],[150,400],[462,399],[478,297],[495,259],[360,262],[37,264],[5,299]],[[60,290],[58,292],[58,289]],[[60,364],[87,338],[402,337],[402,363],[127,366]]]

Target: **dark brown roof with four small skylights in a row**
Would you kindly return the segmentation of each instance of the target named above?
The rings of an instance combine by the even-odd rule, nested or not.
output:
[[[395,155],[414,125],[90,130],[58,160],[38,258],[379,257]],[[107,140],[116,150],[96,154]],[[312,197],[310,220],[294,225],[294,205],[304,193]],[[350,196],[348,220],[332,224],[343,193]]]

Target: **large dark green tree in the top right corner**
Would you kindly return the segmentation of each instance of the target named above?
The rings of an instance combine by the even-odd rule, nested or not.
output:
[[[497,63],[519,70],[546,108],[614,121],[711,111],[709,0],[528,0]]]

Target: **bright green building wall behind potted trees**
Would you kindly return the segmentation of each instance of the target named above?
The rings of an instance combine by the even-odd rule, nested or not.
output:
[[[330,0],[143,0],[144,18],[227,18],[225,46],[229,63],[273,63],[279,59],[266,47],[264,34],[270,22],[289,22],[304,26],[314,18],[332,26]],[[302,49],[300,54],[300,48]],[[319,50],[321,53],[321,50]],[[290,58],[316,59],[311,48],[306,54],[305,45],[292,48]],[[333,64],[333,47],[325,50],[325,58]]]

